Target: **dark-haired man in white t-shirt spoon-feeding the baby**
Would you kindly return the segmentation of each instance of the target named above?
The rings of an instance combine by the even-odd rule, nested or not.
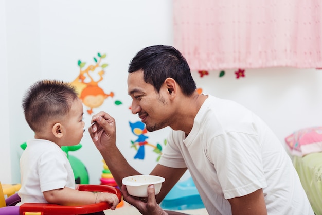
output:
[[[209,214],[314,214],[290,157],[254,113],[211,95],[199,95],[190,68],[171,46],[139,51],[129,66],[132,113],[148,131],[172,131],[150,173],[166,179],[156,200],[124,199],[142,214],[163,214],[158,206],[184,172],[189,172]],[[93,116],[91,137],[121,187],[123,177],[140,174],[116,147],[115,120]],[[156,202],[155,202],[156,201]]]

